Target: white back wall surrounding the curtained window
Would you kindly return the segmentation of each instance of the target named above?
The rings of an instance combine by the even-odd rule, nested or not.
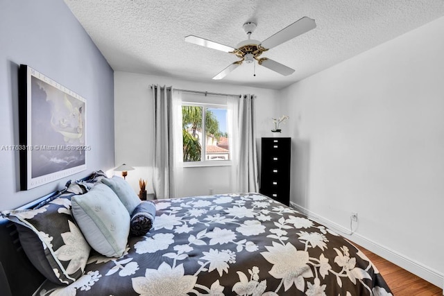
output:
[[[277,113],[280,98],[278,91],[255,87],[242,87],[221,83],[200,83],[176,78],[136,73],[114,72],[114,130],[116,165],[126,163],[137,168],[128,172],[126,179],[139,191],[139,178],[148,180],[147,191],[153,192],[153,96],[150,85],[167,85],[177,89],[223,94],[255,94],[257,115],[257,143],[260,153],[261,137],[271,137],[271,118]],[[260,155],[260,154],[259,154]],[[187,178],[180,196],[207,195],[212,192],[229,193],[230,167],[184,168]],[[197,185],[196,185],[197,184]]]

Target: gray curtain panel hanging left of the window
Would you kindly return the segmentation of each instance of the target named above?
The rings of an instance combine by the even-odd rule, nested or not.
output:
[[[157,199],[170,198],[173,194],[172,90],[159,85],[151,88],[155,112],[153,189]]]

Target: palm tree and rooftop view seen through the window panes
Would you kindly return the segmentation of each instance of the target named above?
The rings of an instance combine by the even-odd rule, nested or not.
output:
[[[184,162],[230,159],[224,108],[182,105],[182,137]]]

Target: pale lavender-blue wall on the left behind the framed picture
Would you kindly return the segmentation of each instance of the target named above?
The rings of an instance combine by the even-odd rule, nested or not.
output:
[[[114,166],[113,71],[63,1],[0,0],[0,147],[19,143],[19,64],[28,64],[87,101],[87,171],[19,190],[19,152],[0,150],[0,210],[62,189]]]

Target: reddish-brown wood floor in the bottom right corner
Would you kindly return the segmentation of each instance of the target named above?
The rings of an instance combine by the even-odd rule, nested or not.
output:
[[[386,259],[373,254],[364,247],[359,248],[370,259],[386,280],[394,296],[443,296],[443,289],[413,275]]]

